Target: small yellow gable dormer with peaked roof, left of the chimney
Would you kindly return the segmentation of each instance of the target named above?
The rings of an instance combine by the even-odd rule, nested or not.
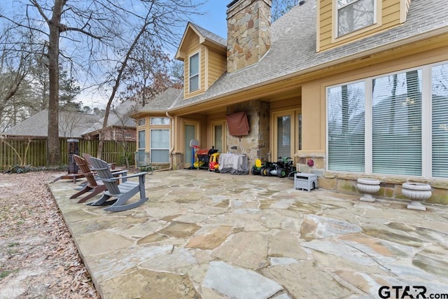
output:
[[[183,61],[184,98],[204,93],[225,72],[225,39],[188,23],[176,59]]]

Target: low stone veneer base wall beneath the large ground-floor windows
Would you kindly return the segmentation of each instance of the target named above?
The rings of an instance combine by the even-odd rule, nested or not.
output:
[[[337,190],[344,193],[358,193],[356,183],[360,177],[369,177],[381,181],[381,188],[375,195],[377,197],[393,198],[396,200],[408,200],[402,195],[402,183],[413,181],[417,183],[428,183],[432,187],[433,195],[426,200],[433,204],[448,204],[448,183],[436,179],[409,179],[400,177],[390,177],[381,175],[364,175],[364,174],[342,174],[325,172],[325,155],[323,154],[297,154],[298,159],[297,170],[300,172],[317,174],[318,188],[325,190]],[[308,162],[313,160],[313,166],[309,166]]]

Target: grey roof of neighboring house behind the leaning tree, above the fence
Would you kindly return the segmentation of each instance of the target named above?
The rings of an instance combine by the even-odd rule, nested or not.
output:
[[[118,105],[116,109],[111,109],[109,118],[107,118],[107,127],[136,127],[135,120],[130,115],[137,111],[138,108],[139,104],[137,102],[125,101]],[[102,130],[103,123],[104,118],[97,120],[97,122],[84,130],[83,135]]]

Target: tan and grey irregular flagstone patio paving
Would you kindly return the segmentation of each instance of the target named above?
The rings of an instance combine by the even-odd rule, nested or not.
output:
[[[102,298],[379,298],[381,286],[448,293],[448,207],[414,211],[407,201],[293,186],[155,172],[146,176],[149,201],[114,213],[69,200],[71,181],[49,184]]]

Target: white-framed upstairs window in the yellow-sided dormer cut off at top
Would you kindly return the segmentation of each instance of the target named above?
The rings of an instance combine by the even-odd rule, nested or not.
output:
[[[337,0],[337,36],[374,24],[376,0]]]

